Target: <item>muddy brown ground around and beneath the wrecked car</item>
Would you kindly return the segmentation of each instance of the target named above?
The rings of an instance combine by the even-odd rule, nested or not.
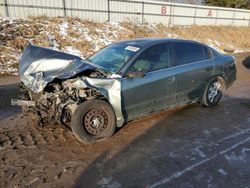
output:
[[[250,53],[236,59],[218,106],[161,112],[92,145],[10,107],[19,80],[1,78],[0,187],[250,187]]]

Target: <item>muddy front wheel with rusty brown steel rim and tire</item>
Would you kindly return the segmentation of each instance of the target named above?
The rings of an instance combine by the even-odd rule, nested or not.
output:
[[[116,117],[109,103],[92,99],[80,104],[72,117],[71,129],[83,143],[93,143],[113,135]]]

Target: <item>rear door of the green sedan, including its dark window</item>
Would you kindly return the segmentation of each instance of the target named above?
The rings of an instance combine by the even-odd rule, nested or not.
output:
[[[210,49],[195,42],[173,43],[176,72],[176,103],[198,99],[214,74]]]

